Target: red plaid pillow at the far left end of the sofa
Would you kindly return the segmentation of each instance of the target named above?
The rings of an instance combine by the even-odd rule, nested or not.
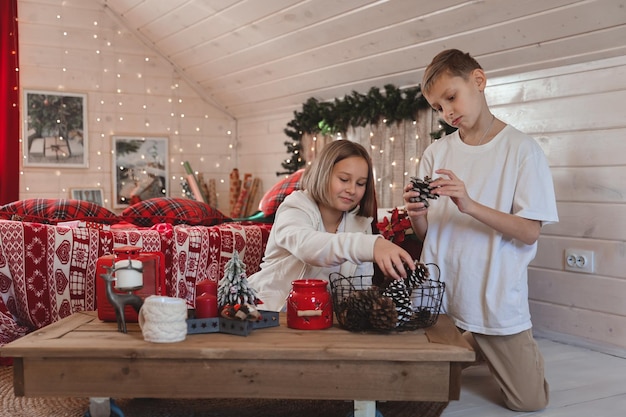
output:
[[[57,224],[71,220],[86,220],[103,224],[115,224],[120,221],[115,213],[96,203],[64,198],[31,198],[14,201],[0,207],[0,218],[43,224]]]

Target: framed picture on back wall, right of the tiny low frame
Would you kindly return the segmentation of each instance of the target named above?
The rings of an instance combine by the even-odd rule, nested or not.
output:
[[[166,136],[112,136],[113,206],[169,195]]]

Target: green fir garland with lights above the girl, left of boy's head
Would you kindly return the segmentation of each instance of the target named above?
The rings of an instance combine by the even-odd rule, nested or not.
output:
[[[384,91],[377,87],[372,87],[365,95],[353,91],[333,102],[320,102],[312,97],[302,105],[301,112],[294,112],[294,119],[287,123],[284,131],[292,140],[285,141],[285,146],[291,157],[281,163],[285,171],[276,175],[291,174],[304,167],[306,161],[302,158],[301,141],[306,133],[345,134],[349,127],[377,124],[381,119],[387,125],[412,121],[418,110],[428,106],[419,86],[399,89],[387,84]]]

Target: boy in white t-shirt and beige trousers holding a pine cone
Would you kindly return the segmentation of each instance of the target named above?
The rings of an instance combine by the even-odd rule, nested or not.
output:
[[[441,268],[444,307],[483,358],[505,405],[536,411],[548,404],[543,357],[532,335],[528,264],[541,226],[558,221],[552,177],[539,145],[497,119],[487,105],[487,78],[468,53],[447,50],[426,68],[422,93],[458,130],[430,145],[419,177],[442,198],[412,202],[423,262]]]

